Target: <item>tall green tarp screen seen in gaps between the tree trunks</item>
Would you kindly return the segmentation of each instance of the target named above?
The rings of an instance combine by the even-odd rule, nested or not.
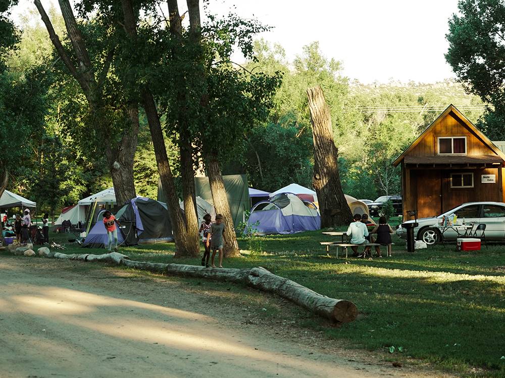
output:
[[[230,174],[223,176],[223,181],[233,223],[237,227],[244,220],[244,212],[250,210],[247,176],[245,174]],[[195,177],[194,183],[196,196],[203,198],[214,206],[209,177]],[[158,201],[166,202],[161,180],[158,180]],[[219,212],[219,209],[216,212]]]

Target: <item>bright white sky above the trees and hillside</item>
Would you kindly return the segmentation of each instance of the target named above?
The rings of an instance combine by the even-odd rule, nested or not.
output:
[[[49,0],[43,0],[47,5]],[[280,43],[292,59],[319,41],[323,54],[343,62],[344,75],[363,83],[390,79],[433,83],[454,77],[446,64],[447,20],[458,0],[210,0],[216,14],[235,5],[274,29],[263,38]],[[185,1],[179,0],[181,11]],[[33,2],[22,0],[16,13]]]

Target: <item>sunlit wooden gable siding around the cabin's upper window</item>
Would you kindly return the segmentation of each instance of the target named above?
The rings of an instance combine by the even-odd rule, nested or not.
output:
[[[408,156],[438,156],[439,137],[466,137],[468,156],[497,156],[494,151],[477,138],[470,129],[459,120],[458,116],[452,112],[435,123],[419,144],[409,152]]]

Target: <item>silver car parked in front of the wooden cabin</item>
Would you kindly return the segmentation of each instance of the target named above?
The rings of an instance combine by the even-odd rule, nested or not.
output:
[[[447,215],[457,215],[458,220],[464,220],[465,224],[473,223],[474,229],[483,223],[486,225],[486,240],[505,241],[505,203],[503,202],[468,202],[449,210],[437,217],[421,218],[417,222],[419,226],[414,228],[414,236],[417,240],[423,240],[426,244],[435,244],[440,241],[440,230],[437,224],[441,218]],[[406,221],[404,223],[413,223]],[[478,233],[479,235],[480,233]],[[401,225],[396,229],[396,235],[402,239],[407,238],[407,230]],[[444,232],[444,240],[456,240],[456,231]]]

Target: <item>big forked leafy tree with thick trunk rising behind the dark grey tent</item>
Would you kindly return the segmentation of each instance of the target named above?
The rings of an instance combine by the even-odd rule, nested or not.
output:
[[[84,115],[84,130],[76,130],[79,139],[98,147],[104,153],[112,176],[118,203],[136,196],[133,183],[133,158],[137,146],[138,107],[135,102],[119,94],[124,88],[111,75],[114,66],[115,48],[111,41],[117,25],[92,25],[99,36],[86,40],[84,25],[77,22],[68,0],[59,0],[65,21],[69,45],[67,48],[56,34],[53,24],[40,0],[34,4],[44,23],[49,38],[63,61],[68,73],[77,81],[87,109]],[[93,52],[93,53],[92,53]],[[79,100],[79,99],[77,99]],[[78,108],[79,104],[75,104]]]

